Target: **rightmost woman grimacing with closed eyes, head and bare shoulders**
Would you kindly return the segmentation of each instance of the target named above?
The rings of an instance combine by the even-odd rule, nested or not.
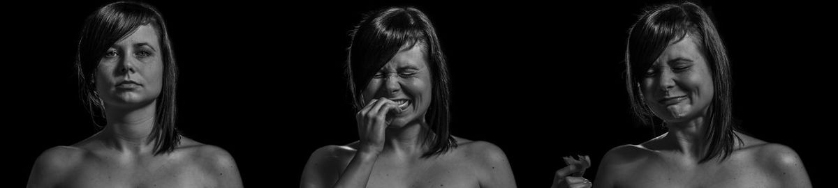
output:
[[[794,150],[733,124],[727,52],[696,4],[646,11],[629,30],[625,61],[635,114],[669,131],[608,151],[594,187],[811,187]]]

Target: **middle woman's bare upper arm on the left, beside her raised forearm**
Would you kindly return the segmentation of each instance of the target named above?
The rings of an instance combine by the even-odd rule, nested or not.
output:
[[[300,180],[301,188],[332,187],[339,178],[340,160],[337,157],[339,146],[328,145],[315,150],[308,157]]]

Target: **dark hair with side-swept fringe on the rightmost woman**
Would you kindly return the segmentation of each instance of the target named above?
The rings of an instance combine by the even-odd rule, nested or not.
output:
[[[730,65],[716,26],[710,16],[695,3],[665,4],[650,8],[629,30],[625,84],[631,107],[644,124],[654,121],[654,114],[644,104],[639,81],[666,47],[679,42],[688,34],[707,59],[714,90],[707,111],[710,119],[705,135],[708,150],[699,163],[716,157],[725,160],[733,151],[736,144],[734,141],[742,142],[734,133],[738,128],[732,117]]]

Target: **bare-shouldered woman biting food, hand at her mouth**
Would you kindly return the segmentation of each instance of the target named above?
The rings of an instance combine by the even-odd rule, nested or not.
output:
[[[360,140],[314,151],[300,187],[515,187],[502,150],[448,131],[447,65],[424,13],[366,16],[347,71]]]

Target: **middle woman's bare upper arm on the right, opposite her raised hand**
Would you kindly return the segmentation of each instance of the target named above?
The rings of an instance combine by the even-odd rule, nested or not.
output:
[[[482,153],[478,156],[484,156],[486,165],[484,169],[489,172],[487,173],[489,177],[481,179],[481,187],[516,187],[515,175],[512,174],[510,161],[506,158],[504,151],[489,142],[477,142],[473,143],[478,146],[475,147],[478,149],[475,152]]]

